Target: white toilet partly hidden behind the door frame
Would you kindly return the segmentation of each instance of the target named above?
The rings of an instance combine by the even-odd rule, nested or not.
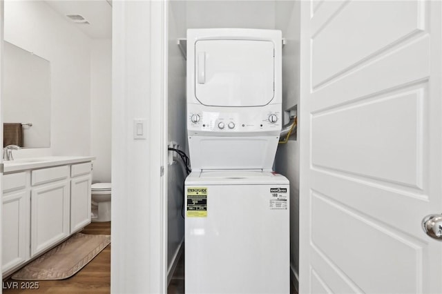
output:
[[[111,183],[95,183],[92,194],[92,222],[111,222]]]

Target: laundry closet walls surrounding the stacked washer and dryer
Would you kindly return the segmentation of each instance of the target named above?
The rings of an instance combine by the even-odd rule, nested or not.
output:
[[[171,1],[169,2],[168,135],[169,147],[189,155],[186,133],[186,30],[188,28],[253,28],[282,31],[282,125],[296,119],[299,100],[300,3],[295,1]],[[281,138],[283,139],[283,138]],[[214,155],[215,156],[215,155]],[[273,170],[290,182],[291,280],[298,276],[299,145],[296,128],[278,144]],[[168,166],[169,279],[183,251],[182,183],[186,173],[179,157]]]

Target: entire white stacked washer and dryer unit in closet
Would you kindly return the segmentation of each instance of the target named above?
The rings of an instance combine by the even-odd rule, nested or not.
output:
[[[187,31],[186,293],[289,293],[278,30]]]

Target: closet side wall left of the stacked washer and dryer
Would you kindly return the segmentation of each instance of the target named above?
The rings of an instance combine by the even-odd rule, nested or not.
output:
[[[186,36],[186,3],[169,3],[169,56],[168,56],[168,141],[175,141],[186,150],[186,60],[177,39]],[[176,153],[173,153],[176,155]],[[183,183],[186,173],[179,157],[168,167],[167,195],[167,259],[169,272],[184,241]]]

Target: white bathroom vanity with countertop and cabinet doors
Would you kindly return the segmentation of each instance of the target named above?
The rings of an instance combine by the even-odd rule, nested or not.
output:
[[[4,161],[3,277],[90,223],[94,159]]]

